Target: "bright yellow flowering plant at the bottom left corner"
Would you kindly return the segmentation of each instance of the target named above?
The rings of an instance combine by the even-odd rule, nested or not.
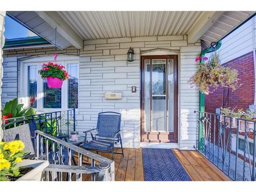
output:
[[[11,177],[22,176],[17,163],[28,154],[24,143],[19,140],[0,142],[0,181],[9,181]]]

